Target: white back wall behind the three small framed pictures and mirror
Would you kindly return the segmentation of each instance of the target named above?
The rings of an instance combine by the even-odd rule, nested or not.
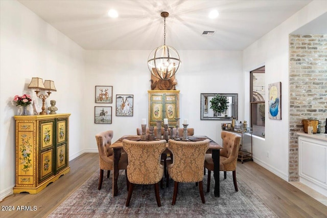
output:
[[[150,72],[147,58],[151,51],[86,51],[85,146],[98,151],[95,134],[106,129],[114,132],[113,141],[123,135],[136,134],[142,118],[148,122],[148,90]],[[200,120],[200,93],[238,93],[239,118],[243,120],[242,52],[241,51],[178,51],[182,60],[176,75],[180,90],[181,120],[189,119],[196,135],[206,135],[221,143],[221,123]],[[95,103],[95,86],[112,85],[113,103]],[[133,117],[115,116],[116,94],[134,95]],[[112,124],[94,123],[94,106],[112,106]],[[226,122],[226,121],[225,121]]]

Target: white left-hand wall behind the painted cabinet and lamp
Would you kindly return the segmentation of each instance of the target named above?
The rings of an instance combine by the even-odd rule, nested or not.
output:
[[[32,77],[55,81],[57,113],[71,113],[69,157],[79,155],[84,135],[84,50],[16,1],[0,1],[0,199],[15,185],[15,95],[31,94],[40,111],[42,101],[27,87]],[[29,108],[33,111],[32,107]]]

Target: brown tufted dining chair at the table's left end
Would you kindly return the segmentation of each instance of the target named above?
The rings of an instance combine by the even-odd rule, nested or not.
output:
[[[107,178],[110,176],[110,170],[113,170],[113,150],[109,148],[113,137],[113,131],[107,130],[96,135],[98,150],[99,150],[99,165],[100,165],[100,178],[98,189],[101,189],[103,181],[103,171],[107,170]],[[122,152],[122,156],[119,160],[118,169],[127,169],[128,158],[125,152]],[[126,183],[128,187],[128,180],[126,176]]]

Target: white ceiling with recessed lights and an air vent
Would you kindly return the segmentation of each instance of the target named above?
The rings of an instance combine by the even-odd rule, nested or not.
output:
[[[311,2],[19,0],[86,50],[243,50]],[[115,9],[118,18],[107,12]],[[216,19],[208,18],[212,9]],[[216,31],[202,36],[203,31]]]

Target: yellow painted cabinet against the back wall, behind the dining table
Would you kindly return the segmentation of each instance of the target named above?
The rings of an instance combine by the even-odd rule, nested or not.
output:
[[[149,90],[149,125],[156,126],[156,121],[168,119],[170,126],[176,125],[179,117],[179,90]]]

